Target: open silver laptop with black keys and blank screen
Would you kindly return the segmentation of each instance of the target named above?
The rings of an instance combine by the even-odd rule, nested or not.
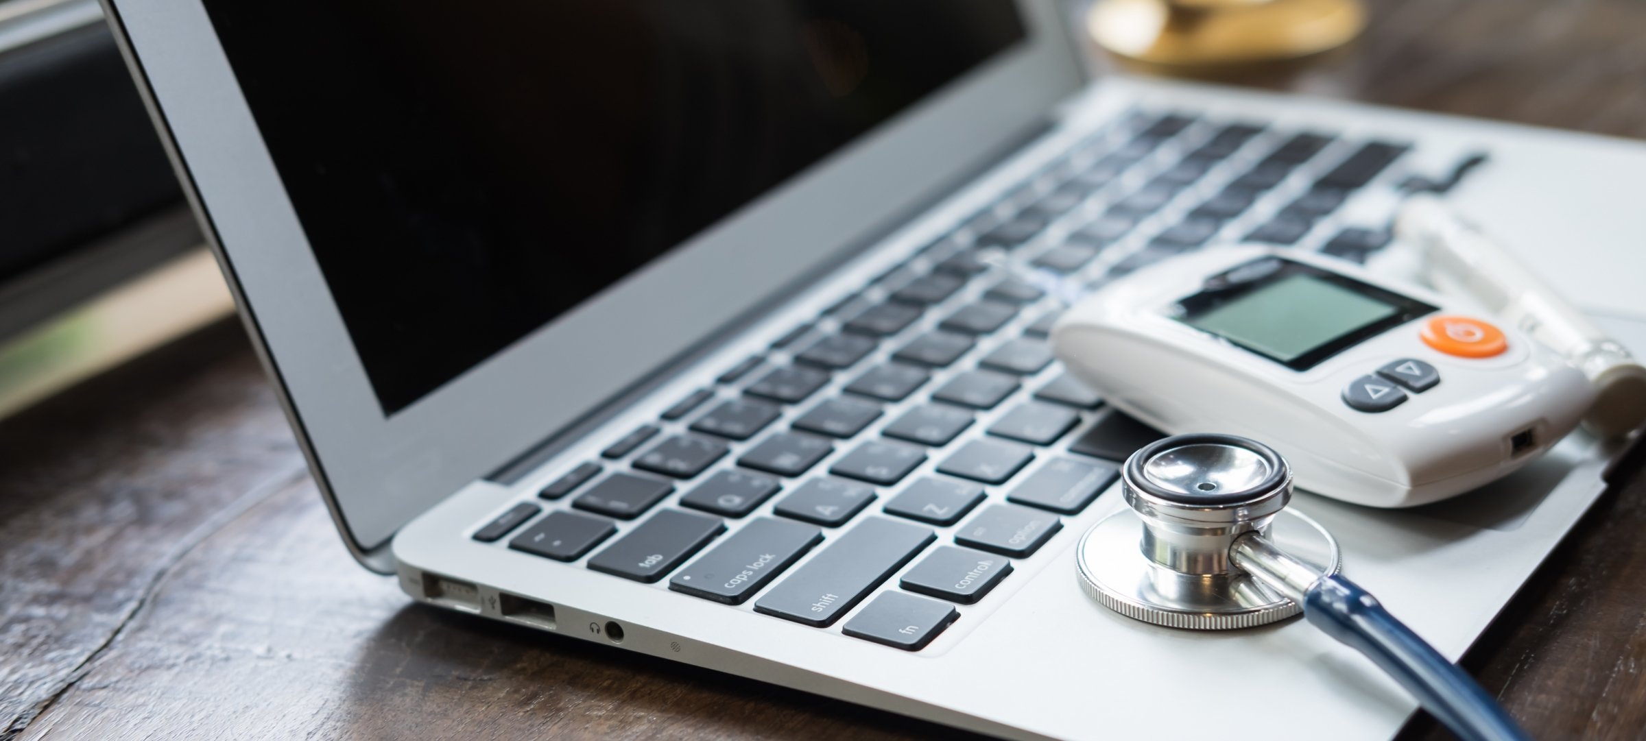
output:
[[[1053,2],[107,12],[349,550],[545,641],[1001,738],[1202,738],[1243,695],[1286,721],[1220,738],[1388,738],[1414,700],[1302,622],[1081,593],[1159,433],[1063,375],[1060,306],[1226,242],[1376,265],[1417,188],[1646,349],[1641,143],[1093,79]],[[1457,657],[1615,454],[1295,507]]]

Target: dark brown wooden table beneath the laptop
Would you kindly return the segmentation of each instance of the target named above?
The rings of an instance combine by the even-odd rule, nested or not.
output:
[[[1371,5],[1355,48],[1244,82],[1646,137],[1639,2]],[[1465,660],[1539,738],[1646,734],[1646,478],[1621,469]],[[0,423],[0,741],[46,736],[955,733],[412,604],[349,560],[224,323]]]

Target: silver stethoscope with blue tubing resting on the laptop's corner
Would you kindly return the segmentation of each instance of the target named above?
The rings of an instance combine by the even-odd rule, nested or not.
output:
[[[1126,510],[1091,525],[1076,568],[1086,594],[1128,618],[1197,631],[1297,613],[1366,654],[1465,741],[1527,739],[1462,669],[1338,573],[1337,540],[1287,510],[1292,469],[1234,435],[1177,435],[1121,469]],[[1141,550],[1141,558],[1139,558]]]

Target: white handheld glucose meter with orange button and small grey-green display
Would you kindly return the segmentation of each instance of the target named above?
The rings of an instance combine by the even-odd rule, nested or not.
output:
[[[1068,370],[1169,433],[1266,440],[1297,486],[1411,507],[1498,479],[1582,420],[1562,356],[1457,300],[1272,247],[1116,278],[1052,329]]]

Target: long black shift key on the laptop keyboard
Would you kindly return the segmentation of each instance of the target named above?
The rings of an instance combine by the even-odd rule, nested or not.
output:
[[[930,529],[869,517],[783,578],[754,609],[828,627],[933,540]]]

